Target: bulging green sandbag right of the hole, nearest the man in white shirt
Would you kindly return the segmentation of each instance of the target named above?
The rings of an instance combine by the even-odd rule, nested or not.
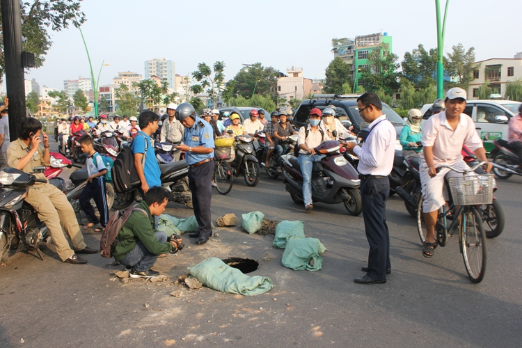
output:
[[[281,257],[281,264],[294,271],[300,269],[319,271],[323,262],[319,255],[324,253],[324,251],[326,251],[326,248],[317,238],[292,237],[286,242],[285,252]],[[310,260],[313,260],[313,262],[310,262]]]

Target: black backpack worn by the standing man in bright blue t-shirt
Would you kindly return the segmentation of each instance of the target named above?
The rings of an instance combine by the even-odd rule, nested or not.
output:
[[[137,134],[136,136],[143,136]],[[145,136],[143,136],[145,138]],[[145,152],[141,161],[142,166],[145,166],[145,158],[147,157],[148,141],[145,139]],[[112,167],[112,180],[116,192],[123,193],[132,189],[136,182],[140,182],[136,166],[134,166],[134,152],[132,148],[124,147],[116,157]]]

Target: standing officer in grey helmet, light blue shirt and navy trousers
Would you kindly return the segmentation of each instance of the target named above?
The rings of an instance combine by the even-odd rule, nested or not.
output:
[[[176,146],[185,152],[189,164],[189,188],[198,232],[189,237],[196,238],[197,244],[205,244],[212,235],[210,200],[212,198],[212,175],[214,174],[214,136],[212,126],[198,118],[193,106],[182,103],[177,106],[175,117],[185,127],[183,145]]]

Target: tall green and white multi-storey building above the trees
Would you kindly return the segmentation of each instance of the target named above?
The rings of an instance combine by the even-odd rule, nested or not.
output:
[[[359,78],[363,69],[369,67],[367,57],[375,49],[379,49],[383,56],[393,52],[392,37],[388,33],[374,33],[359,35],[355,39],[334,39],[333,57],[341,57],[345,63],[351,65],[352,78],[361,85]]]

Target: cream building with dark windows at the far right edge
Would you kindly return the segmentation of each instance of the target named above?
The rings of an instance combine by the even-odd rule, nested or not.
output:
[[[475,70],[475,79],[468,88],[468,99],[478,99],[477,89],[488,81],[493,94],[504,97],[507,82],[522,79],[522,52],[514,58],[490,58],[476,62],[479,68]]]

